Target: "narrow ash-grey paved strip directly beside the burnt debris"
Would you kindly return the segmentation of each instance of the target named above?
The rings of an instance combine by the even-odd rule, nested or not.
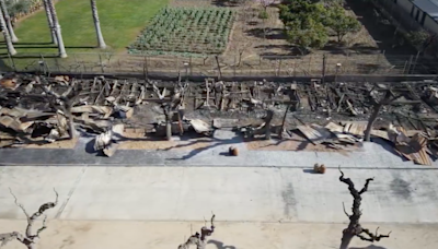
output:
[[[220,167],[313,167],[324,163],[327,167],[343,168],[438,168],[415,165],[395,154],[385,143],[364,143],[358,152],[330,153],[308,151],[247,151],[239,141],[216,142],[197,150],[146,151],[119,150],[108,158],[88,153],[90,141],[81,141],[76,149],[2,149],[0,165],[105,165],[105,166],[220,166]],[[226,156],[230,145],[240,149],[238,157]]]

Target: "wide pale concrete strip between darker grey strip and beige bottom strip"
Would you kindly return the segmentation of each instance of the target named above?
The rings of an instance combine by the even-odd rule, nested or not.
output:
[[[0,218],[24,218],[8,188],[36,210],[59,192],[60,220],[344,223],[351,197],[337,169],[250,167],[1,167]],[[364,194],[362,222],[438,223],[438,171],[345,169]]]

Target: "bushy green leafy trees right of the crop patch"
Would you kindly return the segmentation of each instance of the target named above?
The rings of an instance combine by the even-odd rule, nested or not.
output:
[[[284,0],[279,9],[288,42],[302,52],[324,47],[331,35],[342,43],[345,35],[361,27],[346,13],[342,0]]]

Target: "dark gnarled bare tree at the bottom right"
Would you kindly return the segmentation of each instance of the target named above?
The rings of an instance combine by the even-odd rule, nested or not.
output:
[[[355,237],[355,236],[359,237],[361,240],[367,240],[367,241],[370,241],[370,242],[380,241],[380,239],[382,239],[382,238],[389,238],[391,232],[388,235],[378,235],[378,230],[379,230],[379,227],[378,227],[376,229],[376,233],[372,234],[369,229],[364,228],[360,225],[360,216],[362,215],[362,213],[360,211],[360,204],[361,204],[361,201],[362,201],[361,194],[368,191],[368,185],[369,185],[370,181],[374,180],[374,178],[368,178],[365,181],[364,188],[360,191],[358,191],[355,188],[355,183],[351,181],[351,179],[344,178],[344,173],[341,170],[341,167],[339,167],[339,171],[341,171],[339,181],[342,181],[342,182],[344,182],[344,183],[346,183],[348,186],[348,190],[349,190],[350,194],[354,198],[353,208],[351,208],[351,211],[353,211],[351,215],[349,215],[345,211],[345,205],[343,203],[344,213],[345,213],[345,215],[348,216],[349,224],[348,224],[348,227],[343,230],[343,237],[342,237],[342,240],[341,240],[339,249],[348,249],[348,245],[351,241],[353,237]],[[364,236],[362,234],[367,235],[368,237]]]

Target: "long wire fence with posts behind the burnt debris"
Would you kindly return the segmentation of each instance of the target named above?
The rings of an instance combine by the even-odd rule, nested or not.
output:
[[[307,56],[139,56],[119,54],[70,54],[68,58],[26,55],[3,57],[3,72],[152,73],[182,75],[334,75],[428,74],[437,62],[418,55],[307,55]]]

